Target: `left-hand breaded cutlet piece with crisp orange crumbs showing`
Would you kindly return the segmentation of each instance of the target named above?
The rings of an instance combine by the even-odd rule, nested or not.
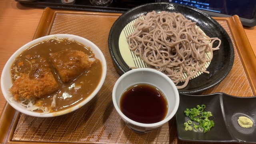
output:
[[[40,98],[58,90],[59,84],[44,58],[27,62],[31,65],[30,71],[20,74],[10,88],[15,100]]]

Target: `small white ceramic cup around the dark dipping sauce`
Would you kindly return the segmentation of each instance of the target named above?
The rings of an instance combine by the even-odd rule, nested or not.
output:
[[[121,112],[119,106],[120,98],[127,88],[135,84],[150,84],[163,92],[168,102],[168,113],[164,120],[153,124],[143,124],[131,120]],[[180,103],[180,96],[178,89],[168,76],[158,70],[138,68],[130,70],[118,78],[113,88],[112,100],[116,111],[130,129],[138,133],[146,133],[162,126],[176,114]]]

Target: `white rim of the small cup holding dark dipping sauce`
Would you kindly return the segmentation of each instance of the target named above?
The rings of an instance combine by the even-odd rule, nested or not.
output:
[[[144,123],[140,123],[140,122],[136,122],[134,120],[131,120],[130,118],[128,118],[127,116],[125,116],[120,108],[118,107],[117,103],[116,103],[116,97],[114,96],[114,93],[116,93],[116,87],[118,86],[118,84],[122,81],[122,79],[126,76],[126,75],[129,75],[133,72],[136,72],[136,71],[148,71],[148,72],[155,72],[157,74],[159,74],[160,76],[164,77],[164,78],[168,78],[170,79],[168,76],[166,76],[164,73],[162,72],[159,72],[158,70],[154,70],[154,69],[151,69],[151,68],[137,68],[137,69],[133,69],[133,70],[130,70],[126,73],[124,73],[122,76],[120,76],[118,78],[118,80],[116,81],[115,85],[114,85],[114,88],[113,88],[113,92],[112,92],[112,100],[113,100],[113,104],[114,104],[114,107],[116,108],[116,111],[118,112],[118,114],[120,114],[120,116],[122,118],[124,118],[126,121],[128,121],[129,123],[131,124],[134,124],[136,126],[142,126],[142,127],[146,127],[146,128],[150,128],[150,127],[158,127],[158,126],[161,126],[163,124],[165,124],[166,122],[168,122],[169,120],[171,120],[173,118],[173,116],[176,114],[177,110],[178,110],[178,106],[179,106],[179,102],[180,102],[180,97],[179,97],[179,92],[178,92],[178,89],[176,89],[176,85],[174,84],[174,82],[172,82],[172,80],[170,80],[170,86],[172,87],[175,87],[174,88],[174,92],[175,92],[175,95],[177,96],[176,97],[176,102],[177,105],[174,107],[174,112],[171,112],[171,114],[169,116],[167,116],[164,120],[160,121],[160,122],[156,122],[156,123],[152,123],[152,124],[144,124]]]

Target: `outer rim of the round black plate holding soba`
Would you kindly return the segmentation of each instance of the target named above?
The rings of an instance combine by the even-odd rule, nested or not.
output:
[[[232,40],[230,39],[228,33],[226,32],[226,30],[224,30],[224,28],[213,18],[211,18],[210,16],[208,16],[207,14],[205,14],[204,12],[197,10],[191,6],[184,6],[182,4],[175,4],[175,3],[148,3],[148,4],[143,4],[140,6],[136,6],[130,10],[128,10],[127,12],[123,13],[120,17],[117,18],[117,20],[114,22],[114,24],[112,25],[110,32],[109,32],[109,36],[108,36],[108,49],[110,52],[110,56],[112,57],[112,60],[114,61],[114,64],[117,66],[117,68],[119,69],[119,71],[121,72],[121,74],[124,74],[125,72],[129,71],[129,67],[128,65],[125,64],[120,64],[118,62],[118,56],[116,56],[114,49],[112,47],[114,40],[113,40],[113,33],[116,31],[115,28],[118,26],[120,27],[119,29],[123,29],[130,21],[125,19],[126,17],[132,17],[134,16],[132,14],[132,12],[134,12],[135,10],[138,10],[140,8],[146,7],[146,6],[151,6],[151,5],[159,5],[159,6],[180,6],[180,7],[186,7],[189,8],[191,10],[194,10],[196,12],[198,12],[199,14],[202,14],[205,16],[205,18],[207,18],[210,22],[212,22],[212,24],[218,26],[218,28],[220,28],[221,32],[223,32],[224,36],[227,38],[228,43],[230,44],[230,61],[228,61],[228,69],[226,70],[226,73],[224,73],[222,76],[220,76],[218,79],[214,80],[214,82],[211,82],[210,84],[200,87],[200,88],[196,88],[194,90],[182,90],[180,89],[179,92],[182,94],[196,94],[199,92],[203,92],[205,90],[208,90],[214,86],[216,86],[217,84],[219,84],[222,80],[224,80],[224,78],[226,78],[226,76],[228,75],[228,73],[230,72],[230,70],[232,69],[232,65],[234,63],[234,48],[233,48],[233,44],[232,44]],[[136,14],[136,15],[141,15],[141,14],[146,14],[145,12],[139,12],[140,14]],[[120,34],[119,34],[120,35]],[[118,39],[119,40],[119,35],[118,35]],[[116,39],[115,39],[116,40]],[[118,42],[117,42],[118,43]],[[118,44],[117,44],[118,45]],[[119,45],[118,45],[119,47]],[[120,55],[120,51],[119,48],[117,48],[117,53]],[[122,65],[126,66],[126,68],[124,68]]]

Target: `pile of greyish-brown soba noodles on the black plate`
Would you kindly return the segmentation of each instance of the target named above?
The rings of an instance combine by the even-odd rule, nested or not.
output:
[[[212,51],[218,50],[221,43],[218,38],[206,36],[196,22],[180,13],[149,12],[141,15],[134,27],[127,38],[130,50],[176,85],[184,82],[178,89],[186,87],[197,72],[209,73],[205,64],[212,60]],[[215,41],[219,41],[218,46],[213,48]]]

